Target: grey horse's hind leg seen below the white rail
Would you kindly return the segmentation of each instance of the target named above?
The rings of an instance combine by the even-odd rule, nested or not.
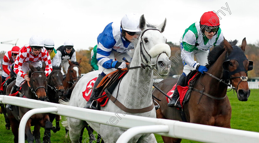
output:
[[[72,143],[78,143],[81,130],[84,128],[85,121],[68,118],[68,129],[69,129],[69,137]]]

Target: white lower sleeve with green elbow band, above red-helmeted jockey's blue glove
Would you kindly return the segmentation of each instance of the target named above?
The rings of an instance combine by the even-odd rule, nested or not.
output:
[[[185,62],[187,65],[196,68],[196,66],[199,65],[196,61],[194,61],[191,58],[191,54],[193,52],[194,45],[190,45],[186,42],[183,42],[183,49],[181,51],[181,58],[183,59],[183,62]],[[188,51],[187,51],[188,50]]]

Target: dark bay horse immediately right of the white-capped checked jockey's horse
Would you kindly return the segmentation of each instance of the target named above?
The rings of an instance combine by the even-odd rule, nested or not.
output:
[[[59,99],[64,94],[63,86],[63,74],[61,73],[61,64],[60,66],[52,66],[52,72],[47,77],[47,97],[52,103],[59,103]],[[56,121],[56,126],[52,127],[52,131],[56,133],[60,130],[59,121],[61,120],[60,115],[49,113],[49,118],[51,123]]]

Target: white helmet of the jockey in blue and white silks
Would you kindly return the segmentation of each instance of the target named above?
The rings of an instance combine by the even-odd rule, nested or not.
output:
[[[138,14],[126,14],[121,19],[121,28],[129,32],[139,32],[141,31],[139,26],[140,15]]]

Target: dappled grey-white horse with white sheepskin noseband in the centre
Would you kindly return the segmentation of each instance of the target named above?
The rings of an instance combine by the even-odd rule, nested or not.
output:
[[[129,112],[121,110],[112,101],[108,101],[104,107],[101,107],[102,111],[108,111],[117,113],[120,111],[122,114],[131,114],[144,117],[156,117],[154,104],[152,101],[152,83],[153,83],[153,70],[157,70],[162,76],[166,76],[169,73],[171,67],[169,56],[171,50],[169,45],[166,44],[166,38],[162,35],[166,26],[166,19],[156,28],[150,28],[146,26],[146,20],[144,15],[141,16],[139,27],[141,29],[140,38],[136,39],[134,43],[134,55],[130,64],[130,67],[146,65],[144,68],[136,68],[129,70],[127,74],[120,81],[120,86],[117,85],[111,96],[114,98],[119,95],[117,101],[124,105]],[[113,59],[114,60],[114,59]],[[118,60],[118,59],[117,59]],[[122,61],[119,61],[122,62]],[[84,107],[86,100],[83,97],[83,92],[87,88],[89,81],[98,77],[100,71],[92,71],[86,73],[77,82],[74,90],[72,91],[69,105],[76,107]],[[93,81],[94,82],[94,81]],[[145,86],[145,87],[144,87]],[[139,90],[141,92],[139,92]],[[92,89],[90,89],[92,90]],[[147,111],[140,111],[142,108],[146,108]],[[131,112],[132,110],[136,112]],[[69,136],[72,143],[79,142],[79,135],[81,129],[86,125],[85,121],[67,118]],[[109,125],[102,125],[87,121],[87,123],[99,133],[106,143],[114,143],[120,137],[120,135],[127,129],[113,127]],[[156,143],[156,139],[153,133],[140,134],[132,138],[129,143]]]

